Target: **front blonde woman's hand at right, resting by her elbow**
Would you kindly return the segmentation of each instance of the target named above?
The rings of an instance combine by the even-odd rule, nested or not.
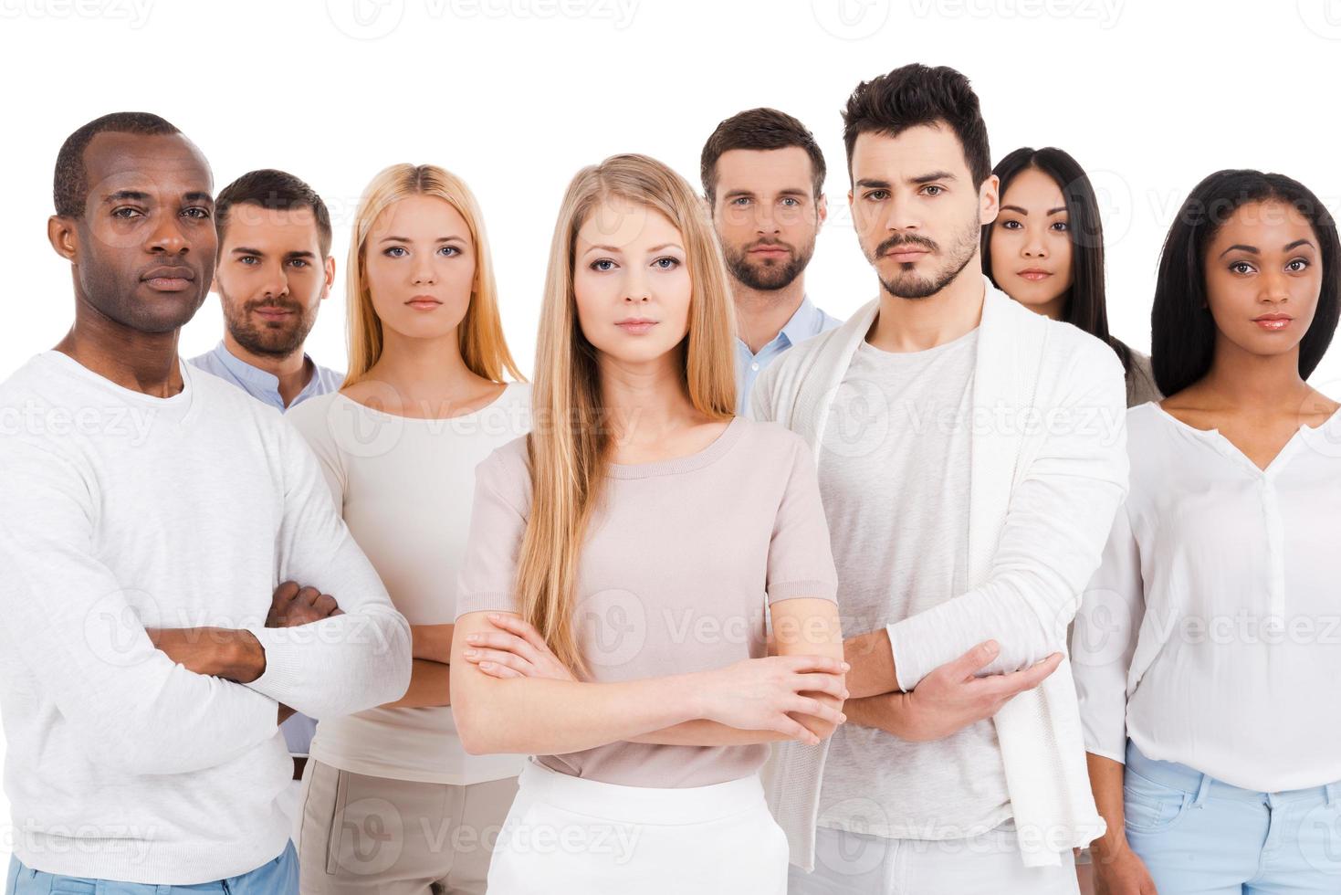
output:
[[[700,671],[691,679],[699,687],[703,718],[738,730],[772,730],[815,746],[819,737],[793,715],[843,723],[842,711],[806,694],[846,699],[843,674],[850,667],[827,656],[767,656]]]

